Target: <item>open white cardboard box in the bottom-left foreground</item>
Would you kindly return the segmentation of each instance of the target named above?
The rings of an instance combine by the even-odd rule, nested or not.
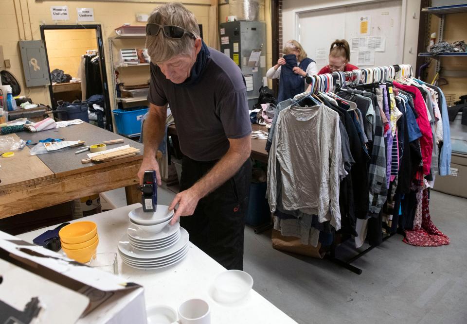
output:
[[[4,232],[0,274],[0,323],[146,323],[143,287]]]

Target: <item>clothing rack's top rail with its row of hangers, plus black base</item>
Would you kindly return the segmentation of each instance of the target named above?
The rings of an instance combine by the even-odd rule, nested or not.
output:
[[[396,76],[400,76],[403,78],[406,78],[406,77],[410,78],[412,77],[412,75],[413,75],[412,66],[399,64],[399,65],[386,66],[386,67],[359,69],[359,70],[353,70],[353,71],[348,71],[348,72],[341,71],[341,72],[333,72],[331,74],[312,75],[312,76],[306,77],[306,83],[311,85],[312,87],[311,91],[309,92],[309,94],[311,95],[319,91],[326,91],[331,87],[333,90],[335,89],[336,86],[340,88],[341,85],[343,85],[346,82],[349,82],[350,84],[357,84],[357,83],[371,84],[371,83],[376,83],[376,82],[383,82],[387,78],[394,79]],[[260,234],[268,229],[271,229],[272,227],[273,227],[272,223],[269,223],[259,228],[256,228],[254,232],[255,234]],[[382,238],[381,243],[396,234],[396,233],[390,233],[389,228],[385,227],[384,224],[383,224],[383,228],[387,230],[388,234]],[[350,236],[348,236],[348,238],[350,238]],[[361,274],[362,270],[358,267],[355,267],[351,263],[359,259],[359,257],[364,256],[365,254],[373,250],[378,245],[370,245],[365,250],[359,252],[356,256],[353,256],[350,259],[344,261],[336,257],[336,249],[342,242],[346,241],[347,239],[344,239],[343,241],[338,243],[335,237],[333,243],[330,245],[329,251],[327,251],[329,255],[327,255],[326,253],[325,258],[353,273]]]

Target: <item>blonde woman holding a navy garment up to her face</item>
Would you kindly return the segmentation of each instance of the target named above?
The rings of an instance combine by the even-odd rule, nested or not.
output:
[[[308,86],[305,78],[318,72],[315,61],[306,57],[302,45],[296,40],[289,40],[282,53],[284,57],[281,57],[277,64],[266,72],[269,79],[280,80],[277,102],[302,93]]]

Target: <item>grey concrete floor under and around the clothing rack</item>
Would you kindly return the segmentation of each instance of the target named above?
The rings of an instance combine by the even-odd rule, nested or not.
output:
[[[116,206],[125,205],[119,190],[106,193]],[[175,194],[158,195],[168,205]],[[254,290],[301,324],[466,324],[467,199],[432,191],[430,207],[448,246],[414,247],[395,235],[353,263],[363,271],[357,275],[328,260],[274,250],[270,232],[247,227],[244,269]]]

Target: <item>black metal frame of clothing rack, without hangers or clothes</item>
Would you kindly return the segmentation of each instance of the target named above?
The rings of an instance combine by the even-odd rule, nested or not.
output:
[[[392,66],[395,70],[395,72],[398,72],[401,68],[401,65],[393,65]],[[405,67],[410,67],[409,65],[405,65]],[[410,71],[412,71],[412,67],[410,67]],[[360,71],[365,71],[365,70],[360,70]],[[345,78],[347,77],[352,77],[353,75],[355,75],[355,70],[354,71],[350,71],[350,72],[344,72],[344,75],[345,75]],[[307,78],[311,78],[311,77],[315,77],[315,76],[309,76]],[[333,77],[333,83],[334,85],[336,84],[336,82],[339,80],[339,76],[338,76],[338,73],[333,73],[332,74],[332,77]],[[308,82],[309,79],[307,79],[307,83],[311,83],[311,82]],[[269,229],[272,229],[273,228],[273,224],[272,223],[269,223],[269,224],[264,224],[264,225],[261,225],[260,227],[257,227],[255,228],[254,230],[254,233],[255,234],[260,234],[260,233],[263,233],[264,231],[267,231]],[[386,226],[383,226],[383,228],[388,232],[390,233],[390,229],[387,228]],[[382,242],[386,241],[387,239],[391,238],[392,236],[394,236],[396,233],[390,233],[390,234],[387,234],[385,235],[382,240],[381,240],[381,244]],[[344,240],[345,241],[345,240]],[[352,265],[351,263],[354,262],[355,260],[359,259],[359,257],[361,256],[364,256],[365,254],[367,254],[368,252],[370,252],[371,250],[373,250],[375,247],[379,246],[380,244],[378,245],[370,245],[368,248],[366,248],[365,250],[361,251],[359,254],[357,254],[356,256],[353,256],[351,257],[350,259],[344,261],[344,260],[341,260],[339,258],[336,257],[336,249],[337,247],[341,244],[342,242],[340,243],[337,243],[336,242],[336,237],[334,238],[334,241],[333,243],[331,244],[330,246],[330,250],[328,251],[329,254],[326,253],[326,256],[324,257],[325,259],[328,259],[330,260],[331,262],[353,272],[353,273],[356,273],[356,274],[361,274],[362,273],[362,270],[354,265]]]

